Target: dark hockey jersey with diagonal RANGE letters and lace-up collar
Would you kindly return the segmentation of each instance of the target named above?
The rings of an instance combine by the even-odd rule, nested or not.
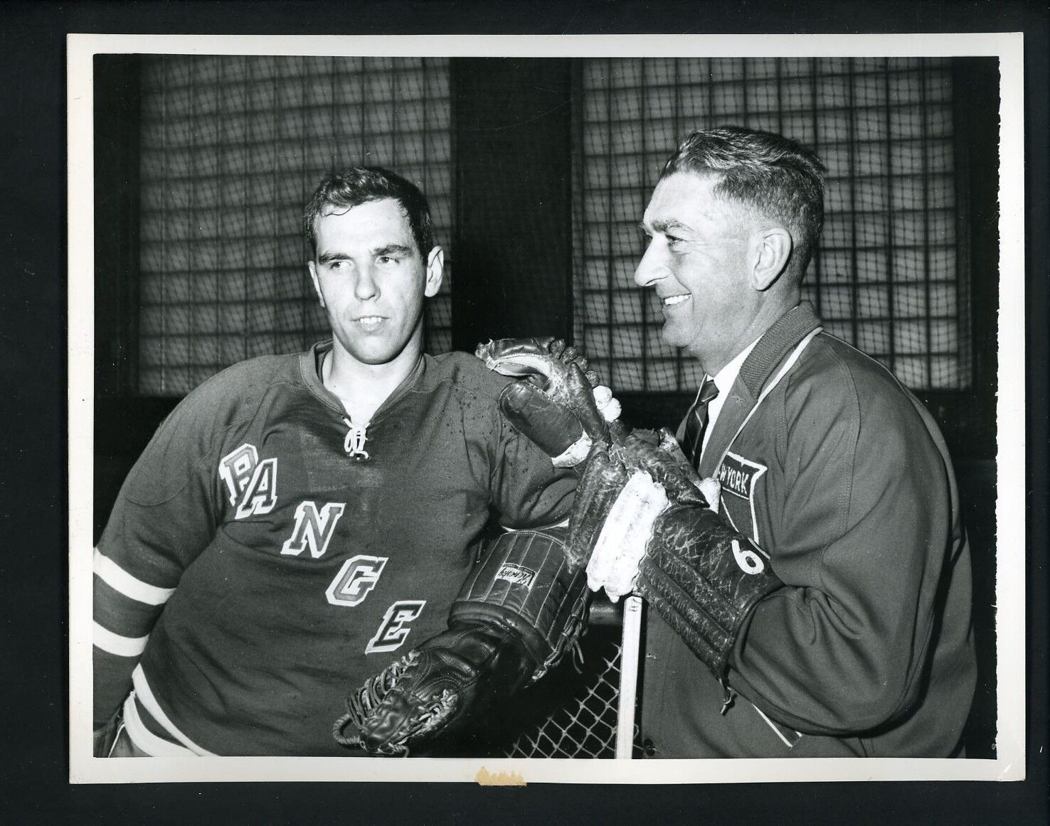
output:
[[[568,515],[574,478],[503,419],[507,379],[424,356],[359,427],[318,378],[330,348],[205,382],[128,475],[96,551],[96,725],[134,672],[155,750],[345,755],[348,691],[444,630],[490,515]]]

